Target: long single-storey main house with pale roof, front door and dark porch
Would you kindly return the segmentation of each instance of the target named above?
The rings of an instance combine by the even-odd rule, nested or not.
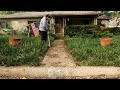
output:
[[[33,21],[40,21],[47,14],[52,16],[51,24],[55,24],[54,33],[64,36],[66,25],[97,25],[97,11],[48,11],[48,12],[21,12],[10,15],[1,15],[0,21],[10,21],[13,29],[23,30]]]

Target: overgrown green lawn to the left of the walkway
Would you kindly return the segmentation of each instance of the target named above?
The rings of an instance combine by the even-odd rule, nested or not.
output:
[[[53,40],[53,38],[51,37]],[[41,45],[40,37],[21,36],[20,45],[12,47],[7,36],[0,36],[0,65],[38,66],[41,64],[48,47]]]

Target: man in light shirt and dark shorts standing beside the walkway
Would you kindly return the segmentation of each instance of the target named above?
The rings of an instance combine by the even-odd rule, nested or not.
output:
[[[45,44],[46,40],[47,40],[47,31],[49,31],[49,23],[48,23],[49,21],[50,21],[49,14],[44,16],[40,21],[39,30],[40,30],[40,34],[41,34],[41,43],[42,44]]]

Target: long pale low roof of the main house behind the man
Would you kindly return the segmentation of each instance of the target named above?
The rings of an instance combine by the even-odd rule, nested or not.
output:
[[[47,14],[51,16],[69,16],[69,15],[100,15],[97,11],[45,11],[45,12],[20,12],[8,15],[0,15],[0,19],[17,19],[17,18],[39,18]]]

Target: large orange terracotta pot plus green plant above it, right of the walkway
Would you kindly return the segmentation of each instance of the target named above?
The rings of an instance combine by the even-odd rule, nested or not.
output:
[[[113,33],[110,33],[108,30],[102,31],[100,35],[100,45],[101,46],[110,46],[112,43]]]

